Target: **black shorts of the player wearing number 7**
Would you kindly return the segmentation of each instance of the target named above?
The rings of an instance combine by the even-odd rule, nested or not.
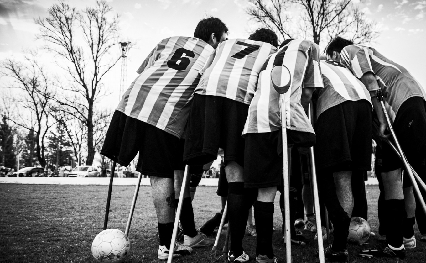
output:
[[[205,164],[224,150],[225,165],[235,161],[244,166],[242,130],[248,105],[229,98],[195,94],[187,123],[184,162]]]

